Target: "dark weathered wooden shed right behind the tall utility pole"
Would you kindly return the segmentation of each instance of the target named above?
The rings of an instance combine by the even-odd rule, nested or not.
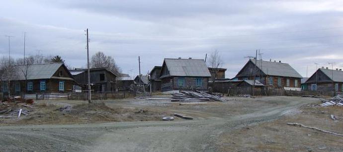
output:
[[[76,82],[86,89],[88,83],[88,71],[75,69],[70,71]],[[90,72],[91,89],[95,92],[115,91],[116,75],[106,68],[92,68]]]

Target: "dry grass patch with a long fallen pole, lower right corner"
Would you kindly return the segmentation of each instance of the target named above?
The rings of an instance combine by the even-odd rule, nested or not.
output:
[[[286,125],[301,123],[327,131],[343,134],[343,107],[301,107],[301,113],[285,116],[280,120],[224,133],[220,138],[222,151],[258,152],[343,152],[343,137],[320,133],[314,130]],[[339,119],[333,121],[330,114]]]

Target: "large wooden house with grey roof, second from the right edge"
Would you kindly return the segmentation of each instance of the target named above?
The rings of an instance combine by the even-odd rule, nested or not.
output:
[[[302,76],[289,64],[272,61],[256,61],[250,59],[236,75],[239,80],[257,79],[266,87],[301,90]]]

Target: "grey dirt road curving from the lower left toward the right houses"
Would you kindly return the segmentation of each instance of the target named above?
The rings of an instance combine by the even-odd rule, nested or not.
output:
[[[213,119],[4,126],[0,127],[0,151],[213,152],[219,151],[218,137],[223,132],[278,119],[303,104],[318,100],[265,97],[260,102],[261,106],[251,108],[251,112],[245,109],[244,114],[223,114]],[[275,102],[278,104],[273,105]],[[273,106],[266,106],[268,104]],[[221,113],[218,111],[216,116]]]

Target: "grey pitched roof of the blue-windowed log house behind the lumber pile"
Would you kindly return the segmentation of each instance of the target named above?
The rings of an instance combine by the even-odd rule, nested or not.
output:
[[[164,64],[169,70],[169,76],[211,76],[202,59],[165,59]]]

